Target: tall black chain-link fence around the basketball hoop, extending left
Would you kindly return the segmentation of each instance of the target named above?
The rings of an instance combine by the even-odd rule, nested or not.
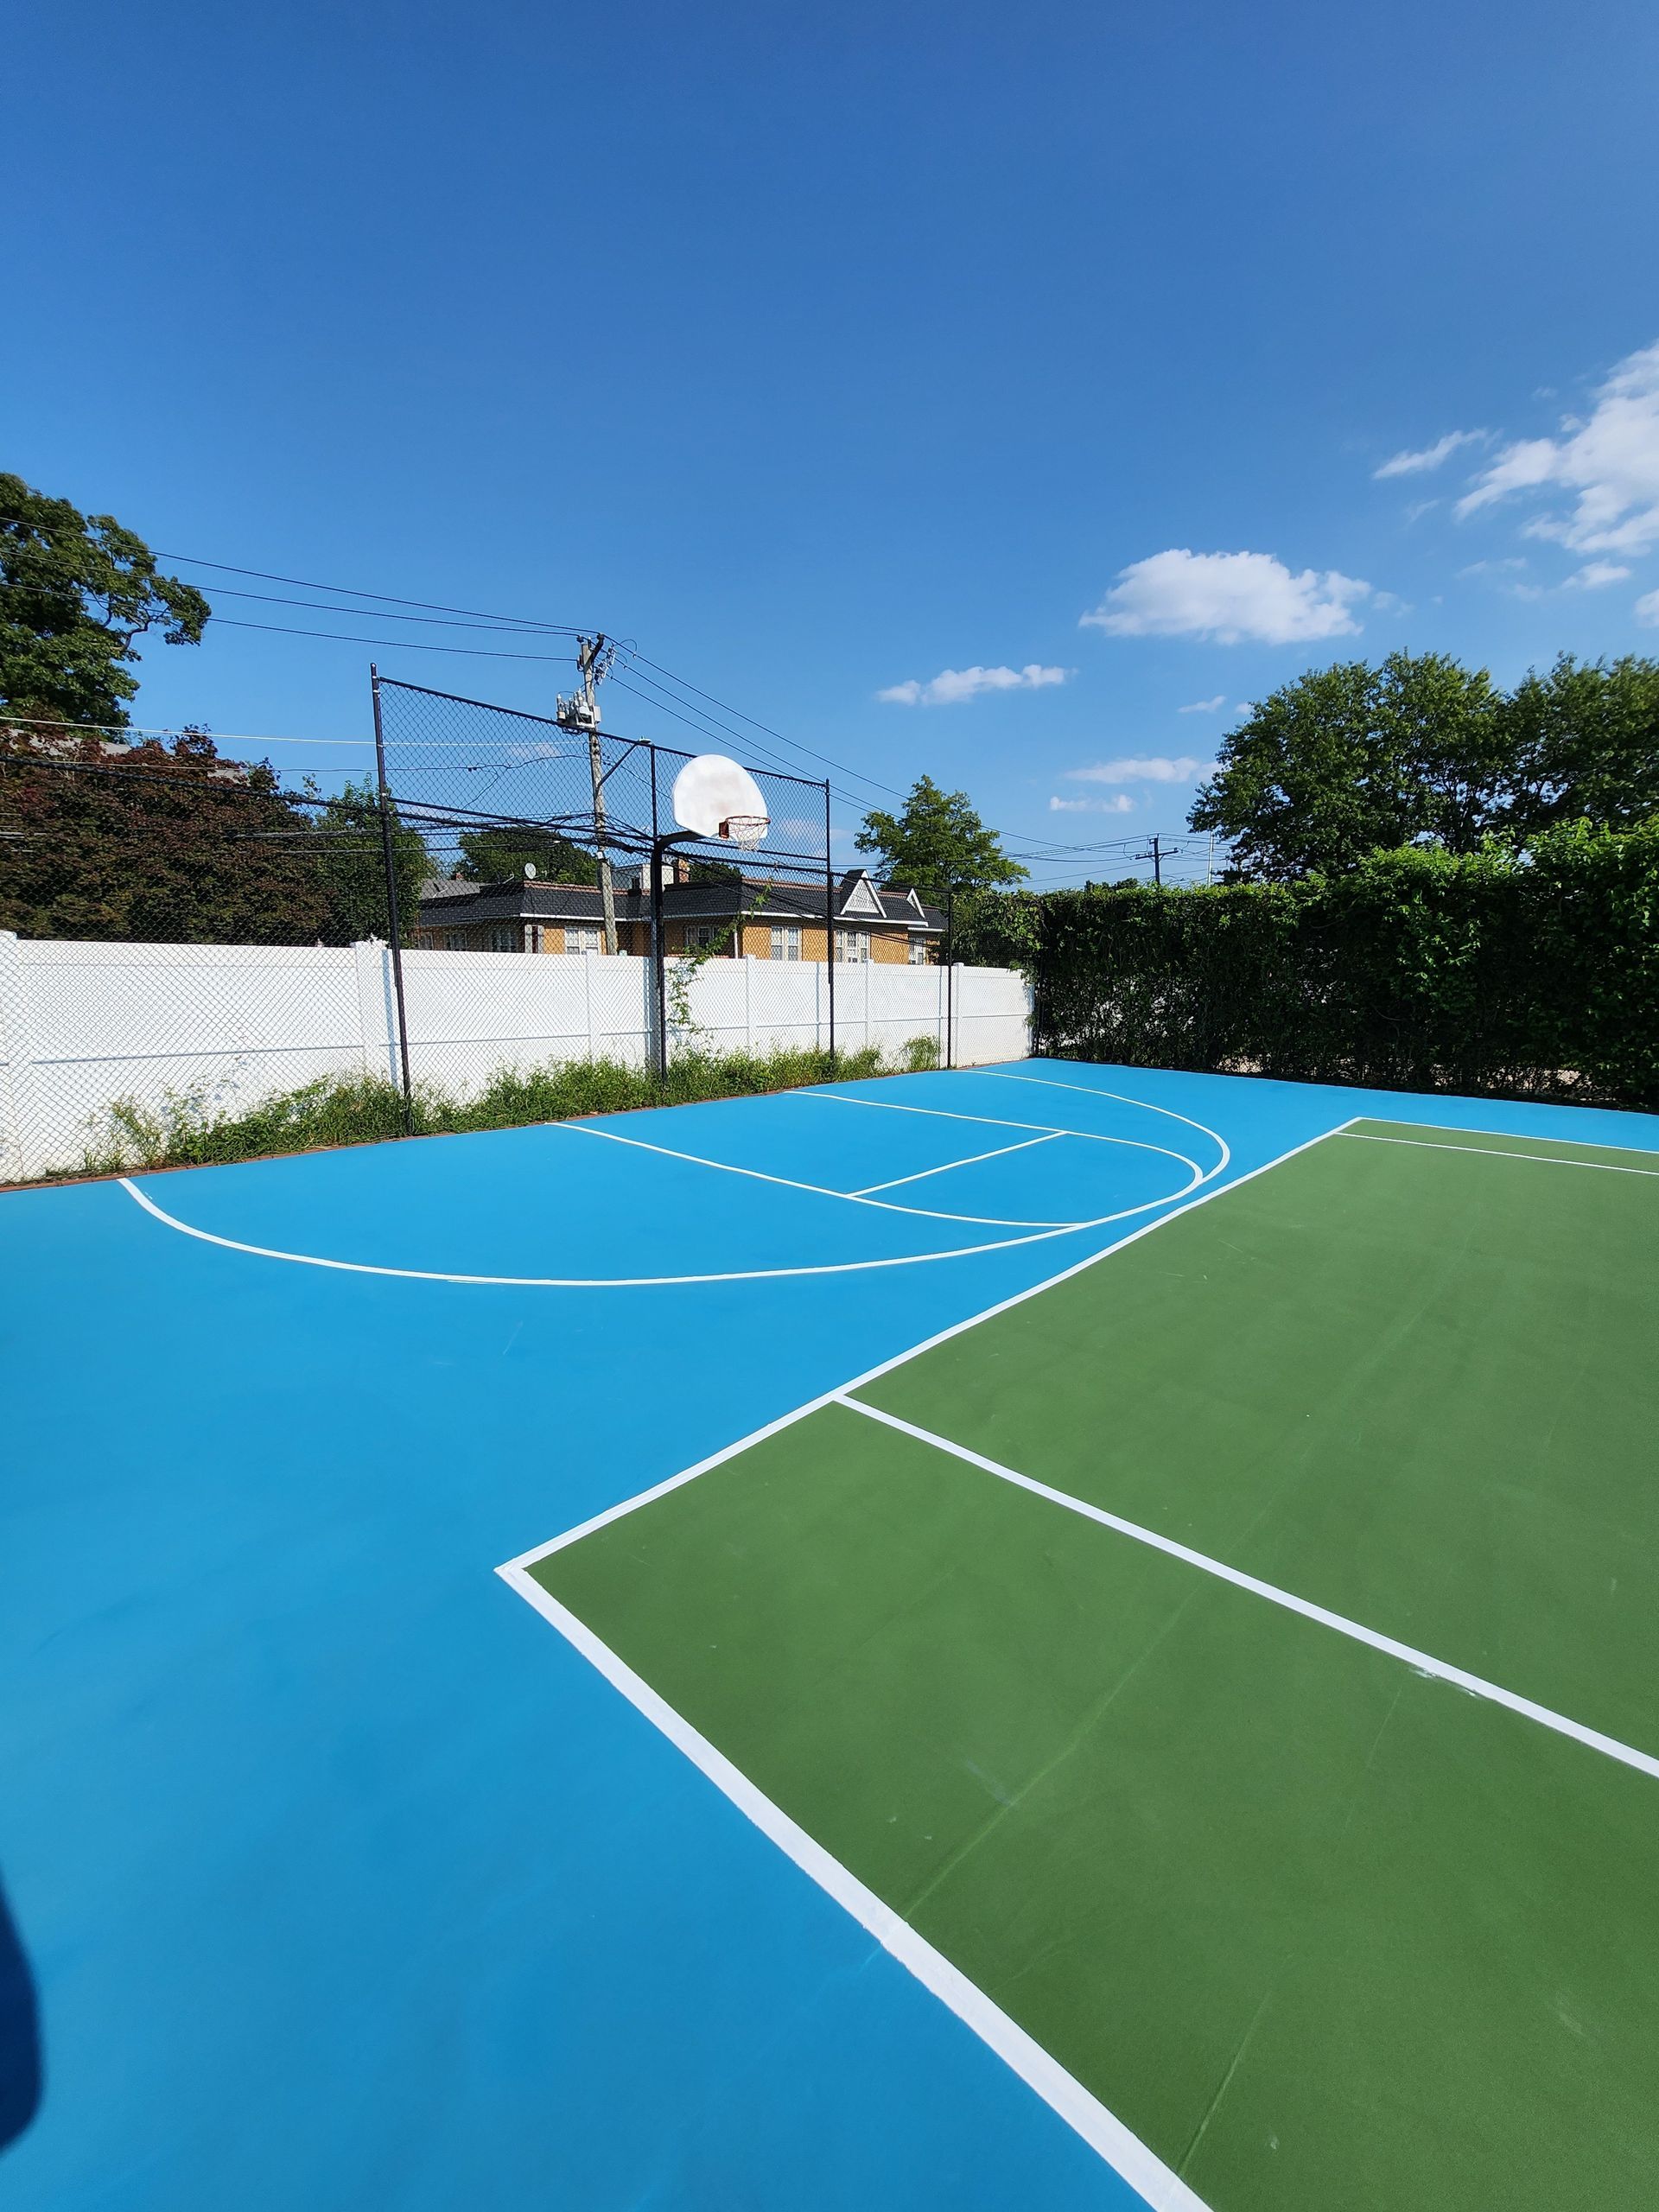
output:
[[[0,1179],[226,1124],[248,1150],[396,1135],[491,1086],[535,1119],[507,1093],[551,1064],[834,1066],[869,927],[841,925],[825,785],[757,770],[739,852],[677,832],[684,752],[392,681],[376,737],[376,776],[319,792],[201,734],[0,726]],[[938,960],[938,918],[914,942]],[[759,989],[754,960],[785,969]]]

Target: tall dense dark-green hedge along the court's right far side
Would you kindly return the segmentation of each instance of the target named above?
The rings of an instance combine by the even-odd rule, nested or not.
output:
[[[1659,1108],[1659,818],[1526,858],[989,896],[958,942],[1022,967],[1042,1048],[1077,1060]]]

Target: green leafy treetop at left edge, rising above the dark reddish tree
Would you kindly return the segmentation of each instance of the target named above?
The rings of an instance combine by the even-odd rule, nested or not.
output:
[[[135,639],[159,624],[170,646],[199,646],[210,613],[115,515],[0,473],[0,703],[13,714],[124,726]]]

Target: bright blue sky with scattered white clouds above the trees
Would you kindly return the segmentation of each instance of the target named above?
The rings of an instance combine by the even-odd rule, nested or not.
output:
[[[0,467],[604,624],[1022,847],[1172,832],[1310,664],[1659,650],[1657,62],[1650,0],[35,9]],[[361,739],[372,650],[215,626],[135,719]],[[975,668],[1046,679],[927,703]]]

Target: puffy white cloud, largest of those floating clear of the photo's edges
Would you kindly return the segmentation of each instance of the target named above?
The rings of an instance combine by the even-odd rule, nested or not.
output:
[[[1371,586],[1327,568],[1292,575],[1272,553],[1190,553],[1172,546],[1117,571],[1117,582],[1084,626],[1113,637],[1241,637],[1290,646],[1358,630],[1354,599]]]

